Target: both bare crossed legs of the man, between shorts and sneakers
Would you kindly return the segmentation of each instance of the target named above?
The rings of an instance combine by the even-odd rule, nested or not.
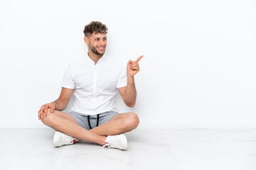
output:
[[[86,130],[80,127],[76,120],[68,113],[60,111],[50,113],[50,109],[48,109],[47,116],[41,119],[41,121],[56,131],[63,132],[80,140],[96,142],[99,145],[103,145],[108,135],[129,132],[139,125],[139,118],[136,113],[120,113],[114,115],[109,122],[92,130]]]

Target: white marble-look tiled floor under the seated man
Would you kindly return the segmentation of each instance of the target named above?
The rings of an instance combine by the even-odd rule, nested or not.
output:
[[[128,150],[55,148],[50,129],[0,129],[0,169],[255,170],[256,130],[134,130]]]

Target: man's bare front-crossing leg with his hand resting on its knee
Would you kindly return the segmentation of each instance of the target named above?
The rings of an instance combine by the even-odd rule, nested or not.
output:
[[[50,113],[50,109],[48,109],[48,114],[42,119],[42,122],[54,130],[63,132],[66,135],[76,137],[80,140],[96,142],[103,145],[106,139],[104,135],[97,135],[94,132],[90,132],[89,130],[80,127],[75,119],[71,115],[68,115],[68,113],[62,113],[60,111]]]

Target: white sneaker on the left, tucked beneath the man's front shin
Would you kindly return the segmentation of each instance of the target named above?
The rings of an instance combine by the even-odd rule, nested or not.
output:
[[[61,147],[63,145],[72,145],[73,143],[78,141],[79,140],[75,137],[70,137],[62,132],[55,132],[53,137],[53,146]]]

